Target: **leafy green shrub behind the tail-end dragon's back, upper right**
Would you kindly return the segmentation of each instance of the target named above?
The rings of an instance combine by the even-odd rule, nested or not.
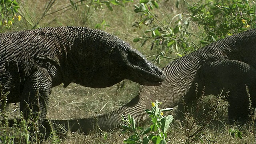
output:
[[[186,2],[186,1],[184,1]],[[134,38],[134,42],[151,43],[151,50],[156,49],[154,62],[160,63],[162,58],[175,53],[178,56],[188,54],[201,45],[209,44],[238,32],[256,28],[255,2],[247,0],[206,0],[188,4],[190,13],[168,15],[159,19],[154,8],[161,3],[156,0],[140,0],[135,5],[134,12],[140,15],[140,20],[133,26],[135,30],[146,27],[145,34]],[[180,0],[176,2],[178,9]],[[163,9],[160,14],[166,14]],[[168,23],[167,23],[168,22]],[[166,24],[167,23],[167,24]],[[193,27],[198,26],[198,30]],[[197,32],[195,32],[197,31]]]

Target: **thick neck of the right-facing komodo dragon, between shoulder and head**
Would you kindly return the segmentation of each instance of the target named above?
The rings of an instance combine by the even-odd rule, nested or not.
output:
[[[86,86],[92,82],[95,71],[108,71],[112,50],[122,42],[112,34],[91,28],[67,26],[66,33],[61,54],[64,88],[70,82]]]

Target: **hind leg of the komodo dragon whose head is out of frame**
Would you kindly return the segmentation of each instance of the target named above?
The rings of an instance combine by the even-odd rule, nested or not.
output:
[[[221,89],[229,90],[228,119],[244,121],[248,118],[248,86],[255,107],[255,73],[253,66],[238,60],[218,60],[209,62],[202,68],[205,92],[217,95]]]

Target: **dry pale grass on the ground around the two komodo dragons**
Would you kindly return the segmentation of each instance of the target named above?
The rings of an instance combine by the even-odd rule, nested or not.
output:
[[[12,29],[6,31],[16,31],[31,29],[38,20],[42,18],[46,2],[44,1],[30,1],[23,0],[18,1],[20,3],[20,12],[22,14],[22,20],[17,22]],[[190,2],[190,1],[189,1]],[[192,2],[190,2],[192,3]],[[56,0],[50,12],[54,12],[68,6],[69,0]],[[132,25],[139,21],[140,16],[136,14],[134,10],[134,3],[127,3],[124,7],[113,6],[113,11],[107,8],[94,10],[90,9],[89,17],[86,22],[83,22],[86,18],[86,12],[88,7],[80,6],[77,11],[72,8],[69,10],[62,10],[48,16],[44,16],[38,23],[38,26],[88,26],[94,28],[97,24],[100,24],[101,29],[122,38],[129,42],[134,48],[138,49],[142,54],[150,56],[156,53],[156,49],[150,50],[151,43],[146,43],[143,47],[140,47],[140,43],[134,43],[133,39],[144,35],[146,26],[136,29]],[[255,1],[254,1],[255,4]],[[180,7],[176,8],[176,1],[169,0],[168,2],[161,2],[160,9],[165,13],[161,13],[159,10],[154,9],[154,13],[157,14],[158,19],[162,20],[164,16],[169,18],[174,17],[179,13],[187,13],[187,4],[184,1],[180,1]],[[65,11],[65,12],[64,12]],[[168,20],[163,20],[168,24]],[[104,22],[103,25],[102,22]],[[196,25],[190,26],[190,30],[197,33],[199,28]],[[1,31],[2,32],[2,31]],[[194,41],[199,41],[194,37]],[[176,58],[175,54],[167,54],[168,57]],[[169,59],[163,59],[158,65],[160,67],[165,66],[170,61]],[[120,83],[120,85],[122,82]],[[94,116],[96,114],[102,114],[110,112],[114,109],[120,108],[132,98],[136,96],[140,86],[129,80],[125,80],[124,88],[117,89],[118,84],[103,89],[94,89],[80,86],[79,84],[70,84],[67,88],[63,88],[62,85],[52,88],[52,94],[50,96],[50,106],[48,108],[47,118],[65,120],[69,118],[85,118],[88,116]],[[158,100],[161,102],[161,100]],[[8,118],[19,117],[19,111],[17,110],[19,105],[10,105],[10,115]],[[14,111],[15,110],[15,111]],[[226,112],[226,111],[225,111]],[[172,112],[175,115],[175,110]],[[226,116],[226,115],[225,115]],[[203,143],[213,144],[253,144],[255,143],[255,128],[253,124],[245,126],[230,126],[225,123],[226,117],[223,117],[221,123],[210,123],[210,125],[202,131],[200,138]],[[240,130],[242,132],[243,140],[239,138],[233,138],[229,135],[230,129]],[[1,128],[2,129],[2,128]],[[1,130],[2,131],[2,130]],[[182,144],[186,142],[186,129],[185,122],[182,120],[174,120],[170,131],[168,131],[168,144]],[[15,132],[15,131],[14,131]],[[1,134],[2,136],[2,134]],[[119,144],[123,143],[125,138],[128,138],[129,134],[122,134],[120,130],[114,130],[111,132],[92,132],[85,136],[83,134],[77,134],[67,132],[63,135],[57,135],[57,141],[62,144],[76,143],[76,144]],[[56,139],[48,139],[43,144],[51,144],[56,142]],[[58,143],[58,142],[56,142]],[[192,143],[201,143],[200,140],[195,140]]]

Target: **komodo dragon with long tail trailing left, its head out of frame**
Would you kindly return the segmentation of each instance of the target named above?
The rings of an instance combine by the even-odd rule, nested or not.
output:
[[[193,100],[196,96],[195,83],[199,84],[199,92],[206,86],[205,95],[216,95],[222,88],[229,89],[228,118],[246,119],[249,101],[245,84],[252,106],[256,107],[255,37],[256,30],[248,30],[178,58],[162,69],[166,75],[162,85],[143,86],[134,99],[118,110],[91,118],[52,120],[52,123],[65,124],[66,129],[72,132],[80,130],[85,134],[97,127],[107,130],[120,126],[122,114],[131,114],[136,123],[141,124],[148,119],[145,110],[151,108],[151,101],[163,102],[159,105],[162,109],[178,105],[182,98]]]

